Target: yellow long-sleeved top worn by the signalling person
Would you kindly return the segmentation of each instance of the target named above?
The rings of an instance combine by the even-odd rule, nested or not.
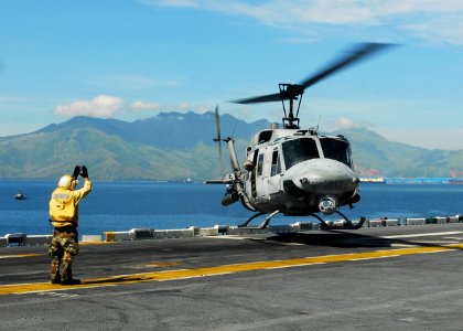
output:
[[[86,180],[80,190],[57,188],[50,200],[50,220],[54,227],[78,226],[78,203],[91,191],[91,182]]]

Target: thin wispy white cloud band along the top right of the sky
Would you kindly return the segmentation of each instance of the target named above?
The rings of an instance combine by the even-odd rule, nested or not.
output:
[[[463,44],[461,0],[140,0],[152,7],[208,10],[248,17],[261,24],[313,35],[320,29],[370,35],[384,29],[390,38],[411,35],[431,42]],[[349,28],[346,30],[346,28]],[[347,32],[347,33],[348,33]],[[375,34],[377,35],[377,34]]]

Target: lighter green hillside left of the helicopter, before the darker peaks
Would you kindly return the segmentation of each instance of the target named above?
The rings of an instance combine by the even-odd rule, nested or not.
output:
[[[90,119],[91,120],[91,119]],[[173,149],[141,143],[86,122],[0,139],[1,179],[56,179],[75,164],[86,164],[99,180],[205,180],[220,174],[213,134],[205,141]],[[184,137],[180,137],[184,139]],[[249,137],[250,138],[250,137]],[[174,140],[175,137],[172,137]],[[248,139],[236,138],[245,150]],[[224,164],[228,164],[225,153]]]

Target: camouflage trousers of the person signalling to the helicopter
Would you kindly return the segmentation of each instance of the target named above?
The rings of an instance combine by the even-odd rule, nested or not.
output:
[[[78,253],[78,233],[74,226],[55,227],[49,255],[53,282],[73,279],[72,264]]]

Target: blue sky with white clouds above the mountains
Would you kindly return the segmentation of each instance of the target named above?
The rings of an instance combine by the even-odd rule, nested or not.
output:
[[[397,46],[308,88],[301,126],[463,149],[461,0],[1,0],[0,137],[216,105],[281,122],[281,103],[229,102],[300,83],[364,42]]]

